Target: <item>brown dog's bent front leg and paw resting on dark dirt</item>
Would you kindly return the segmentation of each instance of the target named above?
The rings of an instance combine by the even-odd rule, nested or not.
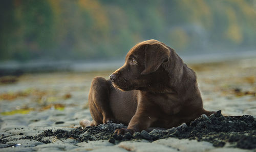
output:
[[[117,135],[120,135],[120,134],[123,135],[126,132],[133,134],[135,132],[141,132],[143,130],[146,130],[156,120],[155,118],[152,118],[151,116],[149,116],[149,114],[150,113],[146,111],[137,110],[137,112],[129,122],[128,127],[116,129],[115,133],[117,133]]]

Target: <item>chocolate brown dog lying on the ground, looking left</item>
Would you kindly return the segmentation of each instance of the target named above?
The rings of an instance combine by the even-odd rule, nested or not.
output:
[[[172,48],[154,39],[134,46],[110,80],[93,79],[89,107],[92,126],[111,121],[128,125],[117,134],[176,127],[215,113],[203,108],[195,72]]]

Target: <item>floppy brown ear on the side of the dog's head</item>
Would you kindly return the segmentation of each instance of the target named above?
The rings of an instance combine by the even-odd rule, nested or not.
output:
[[[170,52],[167,47],[156,42],[154,44],[145,45],[144,71],[142,75],[155,72],[163,62],[168,61]]]

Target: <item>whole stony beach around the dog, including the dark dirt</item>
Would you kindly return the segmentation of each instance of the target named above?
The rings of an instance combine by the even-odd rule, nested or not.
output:
[[[255,149],[256,59],[188,66],[197,73],[205,109],[221,110],[224,116],[219,112],[201,116],[189,126],[133,136],[113,134],[122,124],[79,127],[80,120],[91,120],[86,103],[92,78],[108,78],[114,70],[24,74],[7,82],[5,77],[0,85],[1,151]]]

